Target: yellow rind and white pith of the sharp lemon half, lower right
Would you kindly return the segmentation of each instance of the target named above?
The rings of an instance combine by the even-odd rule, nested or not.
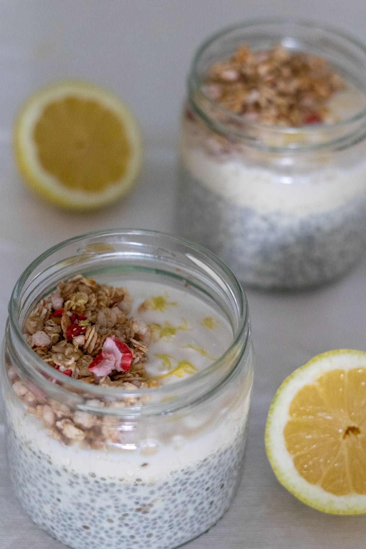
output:
[[[352,358],[352,360],[350,360]],[[297,472],[285,447],[283,430],[289,419],[289,405],[303,385],[314,382],[325,372],[336,368],[366,367],[366,352],[337,349],[313,357],[288,376],[276,391],[269,407],[264,444],[268,461],[280,484],[306,505],[330,514],[366,513],[366,495],[337,496],[310,484]]]

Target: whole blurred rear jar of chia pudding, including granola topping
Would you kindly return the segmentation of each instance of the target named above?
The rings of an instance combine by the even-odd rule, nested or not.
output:
[[[178,231],[248,285],[318,285],[365,248],[365,82],[350,56],[366,67],[366,53],[327,30],[320,51],[316,31],[229,29],[200,48],[189,76]]]

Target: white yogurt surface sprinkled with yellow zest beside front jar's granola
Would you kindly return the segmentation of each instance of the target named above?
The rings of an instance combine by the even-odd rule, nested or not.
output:
[[[145,367],[153,377],[164,376],[162,383],[193,375],[229,348],[233,332],[228,320],[189,292],[157,282],[123,280],[123,285],[133,298],[131,315],[152,329]],[[138,311],[144,301],[149,309]]]

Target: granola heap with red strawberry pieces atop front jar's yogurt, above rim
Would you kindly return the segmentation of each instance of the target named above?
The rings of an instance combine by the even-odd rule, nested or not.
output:
[[[127,316],[131,309],[126,288],[77,275],[40,301],[25,322],[25,338],[50,366],[86,383],[158,385],[144,368],[151,330]]]

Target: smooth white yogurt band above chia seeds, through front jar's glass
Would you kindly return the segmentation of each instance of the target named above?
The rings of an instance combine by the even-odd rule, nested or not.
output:
[[[7,413],[17,436],[29,441],[31,447],[50,456],[52,462],[59,467],[66,467],[75,473],[94,473],[108,479],[123,477],[126,483],[133,482],[136,478],[151,483],[167,477],[171,470],[194,466],[207,456],[234,444],[246,423],[250,389],[249,384],[246,399],[235,411],[229,411],[228,408],[212,410],[212,414],[217,416],[217,421],[211,428],[200,430],[199,423],[204,424],[204,418],[199,419],[196,436],[186,437],[182,434],[184,422],[190,427],[189,422],[192,418],[173,420],[170,438],[163,441],[159,432],[154,433],[152,430],[149,433],[150,438],[140,440],[134,450],[94,450],[82,448],[77,444],[64,446],[51,438],[42,423],[22,410],[19,405],[14,406],[8,401]],[[177,429],[175,435],[174,428]],[[192,434],[192,430],[190,432]]]

